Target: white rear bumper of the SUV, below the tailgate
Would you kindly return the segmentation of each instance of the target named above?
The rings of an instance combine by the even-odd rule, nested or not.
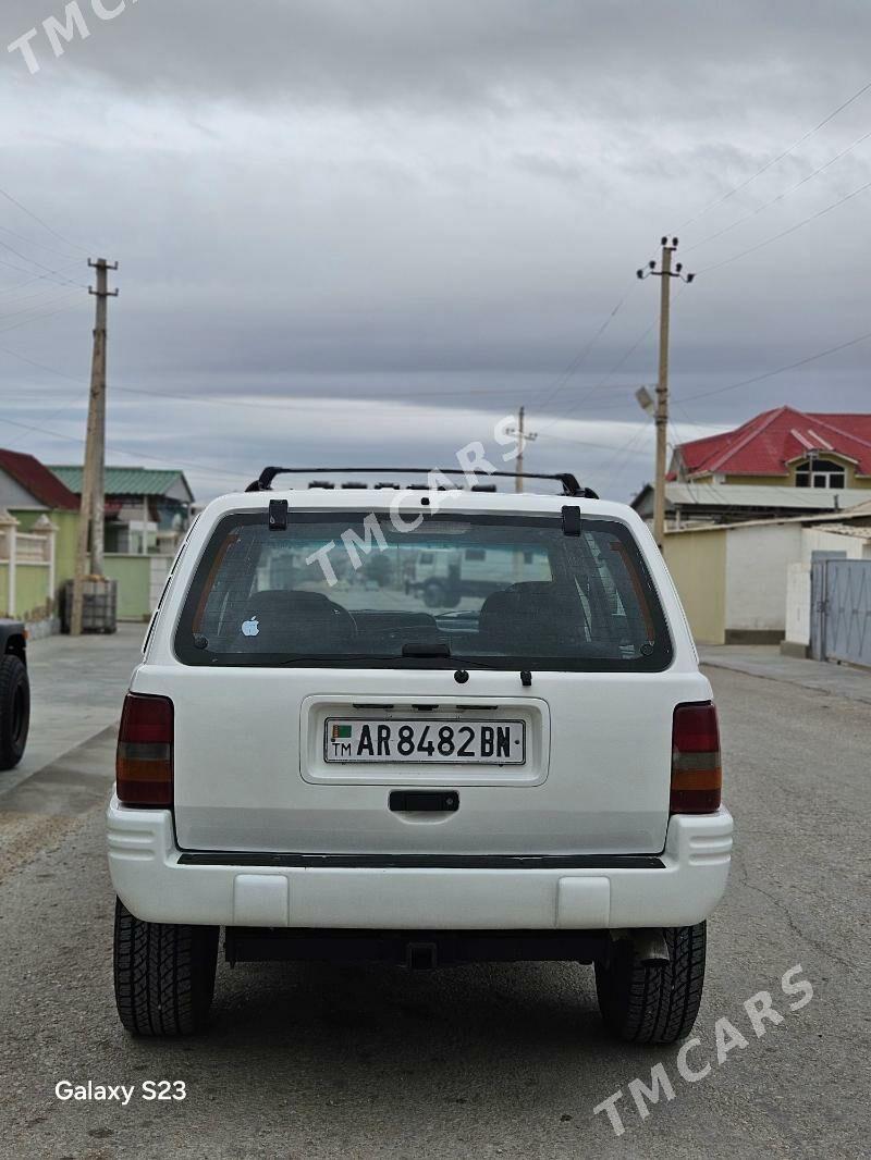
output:
[[[249,854],[192,860],[175,846],[170,811],[130,810],[115,797],[107,824],[115,892],[139,919],[346,930],[689,926],[707,918],[726,890],[733,828],[725,809],[677,814],[658,858],[597,865],[589,858],[355,865]]]

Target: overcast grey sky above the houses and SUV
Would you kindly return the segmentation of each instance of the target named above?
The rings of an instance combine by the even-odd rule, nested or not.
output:
[[[79,3],[59,58],[64,0],[0,8],[39,66],[0,53],[0,445],[80,462],[98,254],[108,461],[202,499],[268,462],[497,450],[521,403],[530,470],[627,499],[663,233],[698,271],[672,440],[870,408],[871,341],[721,389],[871,332],[871,189],[739,256],[871,181],[871,89],[711,204],[871,80],[866,0]]]

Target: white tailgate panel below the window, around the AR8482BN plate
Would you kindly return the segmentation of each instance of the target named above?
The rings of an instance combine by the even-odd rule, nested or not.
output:
[[[513,670],[460,686],[451,669],[179,665],[141,667],[134,689],[175,705],[182,848],[324,854],[660,851],[674,706],[711,695],[697,672],[533,673],[524,688]],[[348,713],[520,720],[526,761],[327,763],[325,723]],[[459,809],[393,812],[395,788],[456,790]]]

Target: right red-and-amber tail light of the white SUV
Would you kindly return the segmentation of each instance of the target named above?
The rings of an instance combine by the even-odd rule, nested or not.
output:
[[[708,702],[678,705],[671,727],[671,813],[714,813],[722,768],[717,709]]]

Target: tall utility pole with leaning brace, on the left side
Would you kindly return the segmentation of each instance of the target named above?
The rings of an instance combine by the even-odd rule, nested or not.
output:
[[[117,298],[117,290],[109,290],[109,270],[118,263],[98,258],[88,259],[88,266],[96,270],[96,289],[88,293],[96,298],[94,322],[94,353],[91,362],[91,394],[88,398],[88,422],[85,437],[85,464],[81,472],[81,502],[79,506],[79,538],[75,545],[75,573],[73,578],[73,607],[70,617],[70,633],[81,635],[85,570],[88,556],[88,530],[91,530],[91,574],[103,574],[103,516],[106,509],[106,336],[108,325],[108,299]]]

